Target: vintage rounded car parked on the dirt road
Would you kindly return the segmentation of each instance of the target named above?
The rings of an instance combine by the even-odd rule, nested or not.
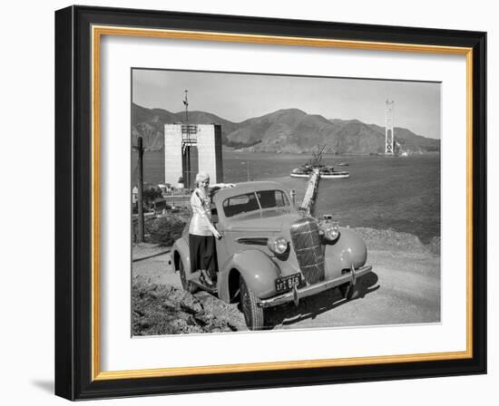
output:
[[[209,290],[226,303],[240,302],[249,329],[262,329],[269,306],[294,302],[338,287],[351,299],[357,278],[371,271],[362,238],[330,219],[317,220],[293,207],[276,182],[240,183],[212,194],[217,240],[216,287],[191,273],[189,225],[171,257],[187,291]]]

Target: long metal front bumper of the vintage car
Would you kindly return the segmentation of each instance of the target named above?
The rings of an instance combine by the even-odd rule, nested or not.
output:
[[[286,292],[285,294],[269,297],[269,299],[260,299],[259,306],[273,307],[289,302],[295,302],[295,304],[298,304],[299,299],[302,299],[303,297],[317,295],[320,292],[324,292],[325,290],[343,284],[350,283],[355,285],[358,277],[368,274],[372,271],[372,269],[372,266],[361,266],[357,269],[352,268],[347,274],[338,276],[335,279],[329,279],[327,281],[320,282],[319,284],[308,285],[300,289],[293,289],[289,292]]]

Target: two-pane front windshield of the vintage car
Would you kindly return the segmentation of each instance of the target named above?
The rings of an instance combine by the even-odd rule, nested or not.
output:
[[[231,218],[243,213],[259,210],[259,208],[286,208],[289,200],[282,190],[260,190],[227,198],[223,202],[225,217]]]

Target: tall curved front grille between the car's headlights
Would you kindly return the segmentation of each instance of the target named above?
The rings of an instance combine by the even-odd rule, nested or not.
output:
[[[308,284],[324,280],[324,255],[318,235],[318,224],[313,218],[302,218],[291,226],[291,240],[298,265]]]

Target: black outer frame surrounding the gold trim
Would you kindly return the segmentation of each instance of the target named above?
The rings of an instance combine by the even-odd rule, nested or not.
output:
[[[473,358],[91,381],[91,25],[473,48]],[[486,372],[486,34],[71,6],[55,13],[55,393],[70,400]]]

